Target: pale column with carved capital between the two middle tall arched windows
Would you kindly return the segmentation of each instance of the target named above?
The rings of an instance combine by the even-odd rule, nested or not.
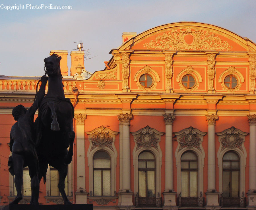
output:
[[[165,122],[165,189],[164,207],[176,206],[176,192],[173,190],[173,148],[172,124],[175,115],[164,115]]]

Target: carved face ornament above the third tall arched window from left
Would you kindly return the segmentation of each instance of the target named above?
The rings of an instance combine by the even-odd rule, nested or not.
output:
[[[187,147],[189,149],[195,147],[197,148],[199,151],[202,152],[202,149],[200,147],[200,143],[201,143],[201,138],[197,135],[196,130],[193,127],[189,127],[186,131],[185,134],[183,134],[180,138],[179,138],[179,150]]]

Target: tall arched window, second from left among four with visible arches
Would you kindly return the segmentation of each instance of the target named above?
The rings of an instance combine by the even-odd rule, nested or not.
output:
[[[139,197],[156,197],[155,156],[144,151],[138,157]]]

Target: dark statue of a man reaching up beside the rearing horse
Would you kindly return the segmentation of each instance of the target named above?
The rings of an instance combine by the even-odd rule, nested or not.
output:
[[[12,126],[10,133],[9,172],[14,177],[17,191],[12,204],[17,204],[22,199],[23,168],[28,166],[31,178],[31,201],[30,204],[38,204],[39,180],[38,180],[38,157],[36,154],[34,115],[45,95],[45,87],[48,77],[42,76],[42,84],[36,95],[33,105],[27,110],[24,106],[18,105],[13,108],[13,117],[17,122]]]

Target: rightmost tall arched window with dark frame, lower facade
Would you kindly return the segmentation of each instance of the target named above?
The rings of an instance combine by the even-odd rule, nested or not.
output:
[[[240,158],[237,153],[229,151],[222,161],[223,197],[239,197]]]

